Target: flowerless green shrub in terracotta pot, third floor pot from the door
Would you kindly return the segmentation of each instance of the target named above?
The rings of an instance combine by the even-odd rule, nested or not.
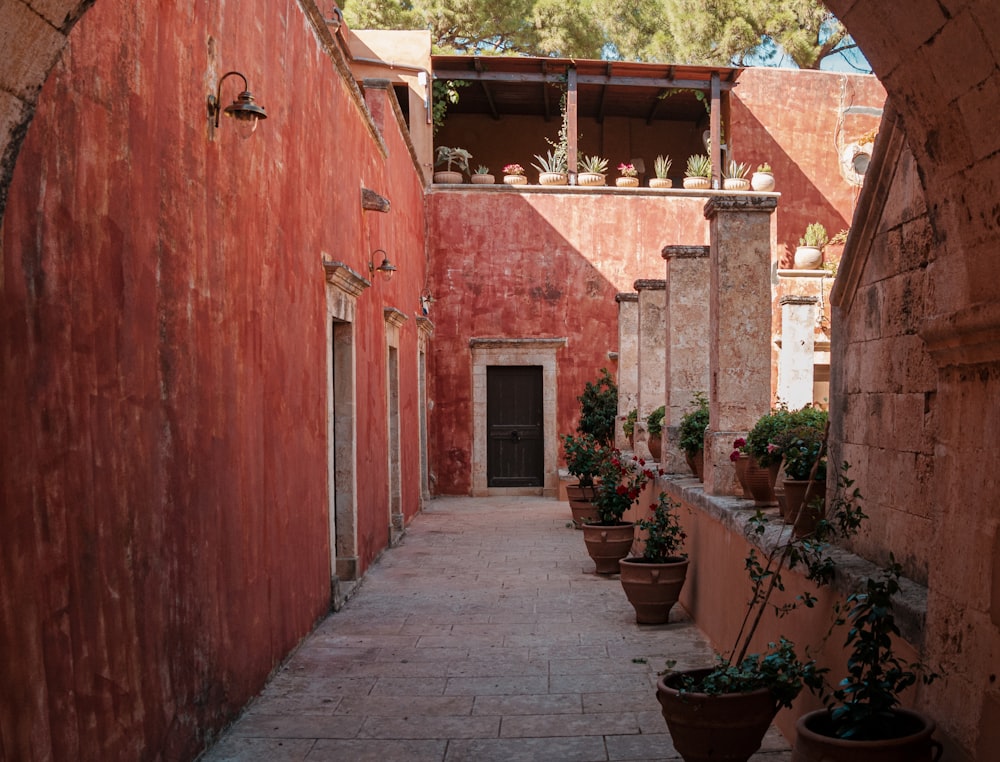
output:
[[[642,555],[619,561],[622,588],[638,624],[666,624],[687,578],[687,554],[681,552],[687,535],[677,518],[679,508],[661,492],[649,506],[652,516],[637,523],[645,533]]]

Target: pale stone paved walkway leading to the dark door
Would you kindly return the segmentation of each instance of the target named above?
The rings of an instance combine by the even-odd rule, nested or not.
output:
[[[679,607],[639,626],[566,503],[431,501],[203,762],[675,760],[665,661],[711,661]],[[753,762],[787,762],[772,728]]]

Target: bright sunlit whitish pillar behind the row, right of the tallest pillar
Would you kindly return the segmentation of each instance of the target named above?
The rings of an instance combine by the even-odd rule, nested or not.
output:
[[[778,399],[792,410],[813,401],[816,349],[814,296],[781,297],[781,353],[778,355]]]

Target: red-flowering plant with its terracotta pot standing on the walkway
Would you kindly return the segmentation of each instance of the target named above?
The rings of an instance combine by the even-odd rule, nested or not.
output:
[[[635,525],[624,521],[625,511],[639,500],[646,484],[657,475],[639,458],[612,449],[601,463],[595,487],[597,520],[583,525],[583,541],[598,574],[615,574],[635,540]]]

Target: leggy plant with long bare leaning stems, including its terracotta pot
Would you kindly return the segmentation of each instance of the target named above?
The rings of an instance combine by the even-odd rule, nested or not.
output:
[[[802,568],[805,578],[820,587],[833,578],[836,565],[829,554],[830,541],[854,535],[866,518],[858,506],[858,490],[851,491],[847,469],[845,464],[838,499],[810,537],[783,532],[763,555],[751,547],[745,562],[751,596],[732,649],[717,654],[714,667],[668,670],[658,681],[664,720],[674,748],[685,760],[749,759],[780,707],[791,706],[803,687],[822,689],[826,670],[813,659],[799,657],[791,641],[779,638],[756,654],[750,653],[750,644],[766,612],[781,616],[816,603],[805,590],[792,603],[771,604],[772,593],[785,589],[784,571]],[[758,510],[750,520],[750,531],[763,536],[767,522]]]

